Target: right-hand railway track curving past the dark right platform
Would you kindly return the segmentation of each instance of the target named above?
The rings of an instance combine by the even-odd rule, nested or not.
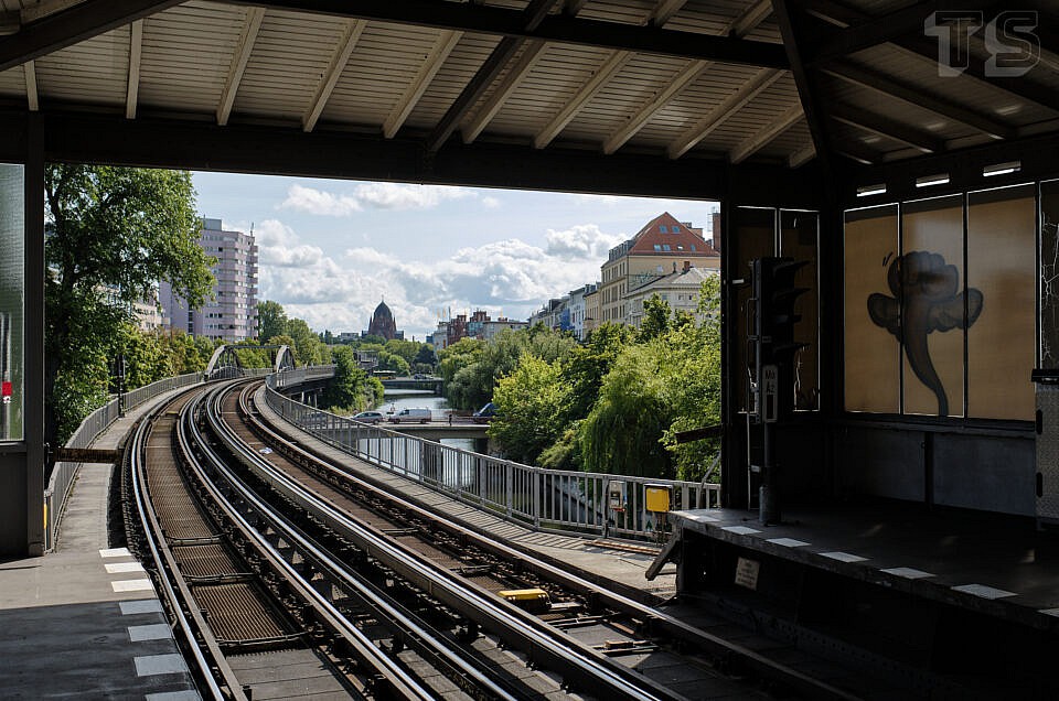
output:
[[[674,692],[688,698],[747,698],[760,695],[762,690],[805,698],[855,698],[689,625],[683,619],[686,612],[667,615],[638,603],[351,475],[292,440],[284,424],[267,424],[250,396],[246,390],[238,400],[228,398],[224,417],[231,431],[246,445],[271,451],[268,460],[304,489],[319,493],[343,513],[392,533],[491,592],[546,591],[552,607],[542,618]]]

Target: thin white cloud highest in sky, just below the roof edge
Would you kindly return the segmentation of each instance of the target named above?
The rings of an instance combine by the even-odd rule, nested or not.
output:
[[[280,203],[280,209],[297,209],[321,216],[344,217],[364,209],[427,209],[448,199],[477,197],[478,193],[466,187],[443,185],[409,185],[402,183],[364,183],[357,185],[352,194],[335,194],[291,185],[287,198]],[[494,197],[483,199],[500,203]]]

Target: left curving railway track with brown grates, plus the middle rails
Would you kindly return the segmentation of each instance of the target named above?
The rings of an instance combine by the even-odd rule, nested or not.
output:
[[[270,675],[280,695],[300,664],[310,695],[678,698],[309,494],[235,446],[223,389],[192,395],[137,430],[131,488],[210,694],[261,698]]]

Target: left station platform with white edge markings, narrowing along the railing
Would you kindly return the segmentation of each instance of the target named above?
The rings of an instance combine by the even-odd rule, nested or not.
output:
[[[118,447],[167,397],[130,410],[94,447]],[[110,474],[82,466],[54,551],[0,561],[0,698],[200,698],[150,578],[109,542]]]

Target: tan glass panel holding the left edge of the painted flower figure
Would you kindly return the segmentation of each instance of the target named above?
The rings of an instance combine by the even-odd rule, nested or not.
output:
[[[845,408],[898,413],[900,345],[868,311],[873,295],[881,299],[896,294],[887,284],[887,271],[899,252],[897,205],[847,212],[844,250]],[[879,306],[889,306],[889,313],[899,321],[897,304],[880,302]]]

